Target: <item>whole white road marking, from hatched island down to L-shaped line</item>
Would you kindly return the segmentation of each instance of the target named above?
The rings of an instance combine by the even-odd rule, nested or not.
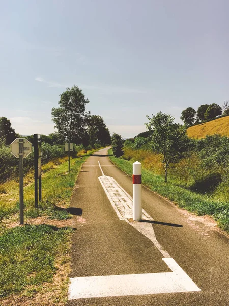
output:
[[[162,258],[162,260],[172,272],[70,278],[69,300],[201,291],[157,241],[150,222],[128,221],[128,218],[132,218],[133,200],[131,196],[113,177],[105,176],[103,171],[102,174],[103,176],[99,177],[99,181],[119,219],[126,221],[148,237],[163,254],[165,258]],[[142,210],[142,219],[153,220],[145,210]]]

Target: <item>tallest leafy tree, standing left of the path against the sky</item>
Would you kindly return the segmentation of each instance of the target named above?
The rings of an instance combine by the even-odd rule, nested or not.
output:
[[[85,130],[85,118],[88,116],[85,105],[89,103],[89,100],[75,85],[72,88],[67,87],[60,97],[59,107],[52,108],[52,121],[66,141],[76,142],[81,139]]]

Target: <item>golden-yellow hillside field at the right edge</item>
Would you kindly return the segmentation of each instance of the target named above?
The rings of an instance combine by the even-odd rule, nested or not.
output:
[[[192,138],[221,134],[229,136],[229,116],[189,127],[187,134]]]

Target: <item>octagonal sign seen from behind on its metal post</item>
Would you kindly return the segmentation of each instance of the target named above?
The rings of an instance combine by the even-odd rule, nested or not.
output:
[[[23,159],[32,151],[32,144],[26,138],[16,138],[11,144],[11,153],[19,158],[19,176],[20,176],[20,224],[24,224],[24,171]]]

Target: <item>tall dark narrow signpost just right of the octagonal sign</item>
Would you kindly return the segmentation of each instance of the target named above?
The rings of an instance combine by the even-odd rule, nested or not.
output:
[[[38,207],[38,197],[41,201],[41,135],[34,134],[34,195],[35,207]],[[38,189],[38,190],[37,190]]]

